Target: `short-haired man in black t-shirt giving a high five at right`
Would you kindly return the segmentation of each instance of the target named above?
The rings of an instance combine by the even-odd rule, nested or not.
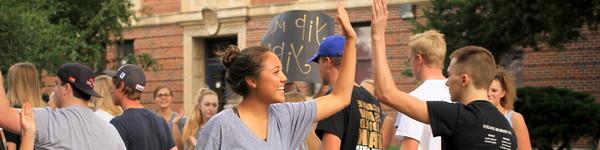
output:
[[[373,4],[371,36],[375,93],[381,102],[425,124],[434,136],[442,137],[442,149],[516,149],[512,128],[487,100],[494,79],[494,56],[485,48],[467,46],[450,55],[448,81],[451,100],[458,103],[420,101],[396,88],[386,60],[385,1]]]

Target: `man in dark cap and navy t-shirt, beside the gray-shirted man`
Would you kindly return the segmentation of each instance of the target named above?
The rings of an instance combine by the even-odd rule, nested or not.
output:
[[[119,131],[127,149],[177,149],[167,122],[140,104],[146,85],[144,71],[136,65],[125,64],[116,72],[105,71],[105,74],[113,77],[114,103],[124,110],[110,123]]]

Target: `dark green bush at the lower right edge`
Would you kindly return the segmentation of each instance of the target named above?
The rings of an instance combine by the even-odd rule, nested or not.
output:
[[[538,149],[570,149],[581,137],[600,138],[600,104],[594,97],[566,88],[523,87],[515,111],[525,117],[532,145]],[[596,145],[597,146],[597,145]]]

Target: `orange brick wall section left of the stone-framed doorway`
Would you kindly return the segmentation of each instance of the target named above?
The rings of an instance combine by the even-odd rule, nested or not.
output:
[[[133,28],[123,34],[134,40],[135,54],[148,53],[162,65],[158,71],[146,71],[146,90],[142,103],[156,110],[152,92],[165,85],[173,90],[173,109],[183,104],[183,29],[177,24]],[[110,58],[109,58],[110,59]]]

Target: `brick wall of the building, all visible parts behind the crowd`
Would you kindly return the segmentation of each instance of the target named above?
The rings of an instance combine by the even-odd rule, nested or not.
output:
[[[272,3],[288,3],[297,0],[251,0],[252,5],[266,5]],[[176,13],[180,11],[180,0],[142,0],[144,15]],[[415,11],[419,21],[424,21],[421,8],[428,3],[418,3]],[[406,60],[408,56],[408,37],[412,35],[410,21],[402,20],[399,16],[399,5],[390,5],[390,17],[386,31],[387,54],[394,81],[402,91],[411,91],[416,86],[416,81],[410,77],[402,76],[408,69]],[[349,9],[353,23],[370,21],[370,7]],[[335,10],[324,11],[330,16],[335,16]],[[250,17],[247,22],[247,46],[260,43],[273,16]],[[176,109],[182,105],[183,92],[183,35],[179,25],[158,25],[139,27],[124,33],[125,39],[134,39],[136,54],[149,53],[162,64],[163,69],[157,72],[146,72],[147,90],[142,95],[143,103],[156,110],[151,92],[156,86],[167,85],[174,91]],[[341,33],[340,26],[336,25],[336,32]],[[600,36],[593,36],[585,31],[586,40],[567,45],[566,51],[542,50],[526,51],[521,64],[523,85],[526,86],[559,86],[573,88],[577,91],[592,93],[600,96]],[[109,54],[111,51],[109,51]],[[112,55],[109,55],[112,58]],[[45,85],[53,85],[53,77],[43,78]],[[49,88],[45,88],[48,91]],[[394,110],[383,106],[384,111],[395,116]],[[394,139],[394,143],[398,141]]]

